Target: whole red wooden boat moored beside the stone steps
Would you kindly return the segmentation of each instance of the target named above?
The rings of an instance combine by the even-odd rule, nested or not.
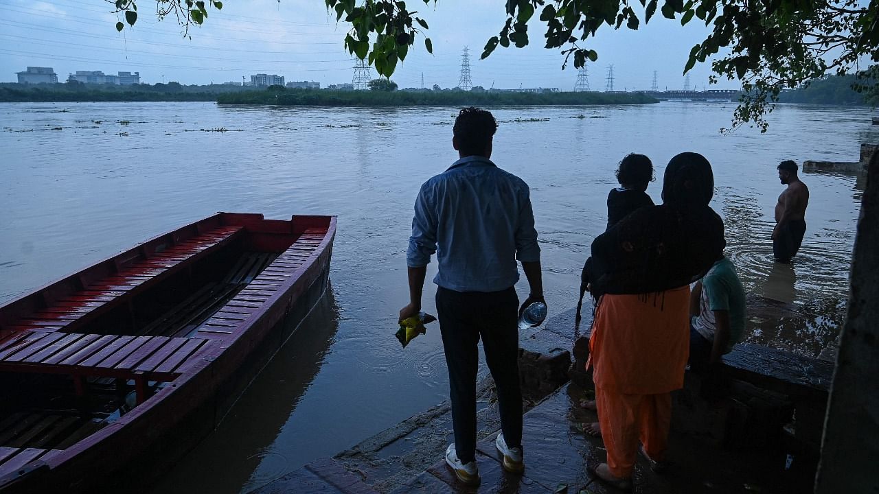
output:
[[[0,492],[149,486],[323,295],[335,232],[214,214],[0,306]]]

